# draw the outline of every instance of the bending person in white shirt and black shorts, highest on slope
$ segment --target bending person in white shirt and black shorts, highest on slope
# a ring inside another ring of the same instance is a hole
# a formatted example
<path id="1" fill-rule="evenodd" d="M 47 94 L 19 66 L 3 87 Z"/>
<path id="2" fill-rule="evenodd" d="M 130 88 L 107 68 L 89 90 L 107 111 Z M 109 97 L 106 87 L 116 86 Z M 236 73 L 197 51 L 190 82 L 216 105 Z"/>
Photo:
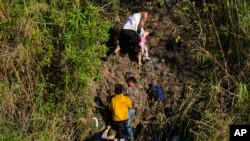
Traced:
<path id="1" fill-rule="evenodd" d="M 144 28 L 147 16 L 147 12 L 132 11 L 132 15 L 127 17 L 120 31 L 119 44 L 115 48 L 115 54 L 120 50 L 125 53 L 131 51 L 133 54 L 136 54 L 138 63 L 140 63 L 138 55 L 141 50 L 137 30 Z"/>

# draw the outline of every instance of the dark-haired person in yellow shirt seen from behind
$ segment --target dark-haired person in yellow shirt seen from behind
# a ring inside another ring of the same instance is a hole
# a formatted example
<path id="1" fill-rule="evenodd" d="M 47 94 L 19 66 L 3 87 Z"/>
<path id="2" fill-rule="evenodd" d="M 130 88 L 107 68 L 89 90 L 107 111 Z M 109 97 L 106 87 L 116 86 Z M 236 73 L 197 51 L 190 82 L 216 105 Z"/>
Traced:
<path id="1" fill-rule="evenodd" d="M 128 111 L 132 108 L 129 97 L 122 92 L 120 84 L 115 85 L 115 96 L 111 99 L 109 109 L 112 112 L 113 128 L 117 132 L 116 138 L 125 139 L 127 133 Z"/>

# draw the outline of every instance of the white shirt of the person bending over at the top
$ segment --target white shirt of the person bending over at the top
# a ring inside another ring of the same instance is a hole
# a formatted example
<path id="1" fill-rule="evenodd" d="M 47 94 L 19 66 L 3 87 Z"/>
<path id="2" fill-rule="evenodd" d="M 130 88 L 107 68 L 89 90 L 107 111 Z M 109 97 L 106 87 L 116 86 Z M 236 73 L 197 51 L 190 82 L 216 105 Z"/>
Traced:
<path id="1" fill-rule="evenodd" d="M 140 20 L 141 20 L 141 13 L 134 13 L 125 20 L 122 29 L 129 29 L 137 32 L 137 27 L 140 23 Z"/>

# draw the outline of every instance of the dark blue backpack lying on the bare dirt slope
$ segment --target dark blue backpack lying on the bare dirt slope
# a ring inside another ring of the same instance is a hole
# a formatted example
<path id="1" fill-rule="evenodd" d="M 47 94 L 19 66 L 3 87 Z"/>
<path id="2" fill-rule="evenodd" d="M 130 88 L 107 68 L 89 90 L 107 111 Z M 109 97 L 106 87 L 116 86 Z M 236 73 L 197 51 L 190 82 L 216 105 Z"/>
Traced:
<path id="1" fill-rule="evenodd" d="M 149 84 L 147 93 L 150 99 L 156 99 L 158 101 L 163 101 L 165 99 L 165 95 L 161 86 L 155 85 L 152 82 Z"/>

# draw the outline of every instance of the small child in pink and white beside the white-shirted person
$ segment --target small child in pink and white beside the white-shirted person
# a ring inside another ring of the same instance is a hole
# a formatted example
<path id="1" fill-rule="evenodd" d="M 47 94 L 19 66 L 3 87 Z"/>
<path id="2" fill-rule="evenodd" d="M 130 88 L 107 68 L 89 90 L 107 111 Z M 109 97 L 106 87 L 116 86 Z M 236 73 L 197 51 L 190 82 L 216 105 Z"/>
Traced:
<path id="1" fill-rule="evenodd" d="M 148 31 L 144 31 L 143 28 L 141 28 L 140 30 L 140 42 L 139 42 L 139 46 L 140 46 L 140 52 L 138 53 L 138 62 L 139 65 L 142 64 L 142 61 L 146 61 L 146 60 L 150 60 L 150 58 L 148 57 L 148 47 L 147 47 L 147 36 L 149 35 Z"/>

